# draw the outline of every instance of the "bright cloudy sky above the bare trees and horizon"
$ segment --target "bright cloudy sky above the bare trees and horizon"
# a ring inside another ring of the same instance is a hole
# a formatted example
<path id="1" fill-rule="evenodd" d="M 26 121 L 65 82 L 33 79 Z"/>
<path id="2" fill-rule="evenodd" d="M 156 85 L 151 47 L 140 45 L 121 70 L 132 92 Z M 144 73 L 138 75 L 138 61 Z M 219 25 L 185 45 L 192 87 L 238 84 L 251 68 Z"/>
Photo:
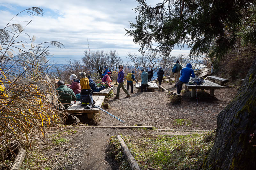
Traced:
<path id="1" fill-rule="evenodd" d="M 147 0 L 148 4 L 155 5 L 159 0 Z M 59 41 L 65 48 L 58 49 L 49 46 L 54 57 L 51 62 L 66 63 L 65 60 L 81 59 L 84 50 L 116 50 L 125 61 L 128 52 L 138 52 L 139 45 L 135 45 L 132 37 L 127 37 L 124 28 L 130 28 L 128 21 L 134 21 L 137 14 L 133 8 L 138 6 L 135 0 L 1 0 L 0 28 L 20 11 L 38 6 L 44 10 L 43 16 L 31 16 L 22 12 L 12 21 L 31 21 L 24 32 L 31 37 L 36 36 L 34 44 L 46 41 Z M 26 26 L 28 22 L 22 22 Z M 11 23 L 13 24 L 13 23 Z M 20 39 L 29 40 L 26 34 Z M 24 43 L 26 48 L 30 43 Z M 189 49 L 175 48 L 172 55 L 188 54 Z"/>

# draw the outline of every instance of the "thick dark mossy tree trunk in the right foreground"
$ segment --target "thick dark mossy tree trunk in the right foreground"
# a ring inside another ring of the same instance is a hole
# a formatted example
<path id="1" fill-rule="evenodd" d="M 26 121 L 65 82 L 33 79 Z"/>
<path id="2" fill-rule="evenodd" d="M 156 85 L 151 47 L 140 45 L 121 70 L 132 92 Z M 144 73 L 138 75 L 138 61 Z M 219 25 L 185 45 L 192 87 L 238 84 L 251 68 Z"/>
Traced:
<path id="1" fill-rule="evenodd" d="M 255 135 L 255 136 L 254 136 Z M 234 99 L 217 118 L 206 169 L 256 169 L 256 59 Z"/>

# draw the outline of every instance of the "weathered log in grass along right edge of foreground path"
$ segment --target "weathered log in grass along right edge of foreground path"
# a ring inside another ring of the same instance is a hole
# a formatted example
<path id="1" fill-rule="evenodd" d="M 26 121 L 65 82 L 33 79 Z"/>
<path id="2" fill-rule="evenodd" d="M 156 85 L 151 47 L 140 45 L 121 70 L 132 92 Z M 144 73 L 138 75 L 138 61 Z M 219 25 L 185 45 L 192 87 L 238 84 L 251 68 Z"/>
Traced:
<path id="1" fill-rule="evenodd" d="M 125 142 L 122 139 L 122 137 L 120 135 L 117 135 L 116 139 L 118 139 L 119 142 L 121 143 L 121 148 L 122 148 L 122 150 L 124 152 L 124 157 L 128 161 L 131 169 L 132 170 L 140 170 L 140 167 L 139 167 L 138 163 L 136 162 L 136 160 L 132 156 L 132 153 L 130 152 L 129 148 L 125 144 Z"/>

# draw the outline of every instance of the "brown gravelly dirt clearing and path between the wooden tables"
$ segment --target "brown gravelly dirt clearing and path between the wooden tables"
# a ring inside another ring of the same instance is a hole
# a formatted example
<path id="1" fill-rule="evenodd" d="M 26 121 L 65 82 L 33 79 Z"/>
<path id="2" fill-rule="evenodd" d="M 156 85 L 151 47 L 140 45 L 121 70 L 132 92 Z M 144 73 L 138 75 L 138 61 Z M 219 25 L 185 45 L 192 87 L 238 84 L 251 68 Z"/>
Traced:
<path id="1" fill-rule="evenodd" d="M 176 92 L 173 85 L 164 83 L 162 86 L 167 90 Z M 206 92 L 210 93 L 210 91 Z M 154 126 L 158 129 L 169 127 L 172 129 L 212 130 L 217 127 L 217 115 L 233 99 L 236 92 L 235 88 L 215 90 L 215 98 L 199 97 L 197 106 L 196 98 L 189 97 L 191 92 L 181 95 L 180 104 L 170 104 L 167 92 L 137 93 L 134 87 L 134 93 L 131 93 L 132 97 L 126 99 L 124 98 L 126 95 L 121 90 L 120 99 L 109 99 L 109 108 L 106 111 L 126 123 L 123 124 L 100 111 L 102 121 L 98 122 L 97 125 L 132 126 L 143 124 L 143 126 Z M 185 119 L 187 122 L 179 123 L 177 122 L 178 119 Z M 50 150 L 44 153 L 48 159 L 53 160 L 50 169 L 118 169 L 118 165 L 108 154 L 109 138 L 120 134 L 140 136 L 144 133 L 141 129 L 103 129 L 82 126 L 72 128 L 76 129 L 77 132 L 66 136 L 69 140 L 68 143 L 60 146 L 59 149 L 54 149 L 56 146 L 52 146 Z M 150 133 L 161 134 L 162 132 L 151 130 Z"/>

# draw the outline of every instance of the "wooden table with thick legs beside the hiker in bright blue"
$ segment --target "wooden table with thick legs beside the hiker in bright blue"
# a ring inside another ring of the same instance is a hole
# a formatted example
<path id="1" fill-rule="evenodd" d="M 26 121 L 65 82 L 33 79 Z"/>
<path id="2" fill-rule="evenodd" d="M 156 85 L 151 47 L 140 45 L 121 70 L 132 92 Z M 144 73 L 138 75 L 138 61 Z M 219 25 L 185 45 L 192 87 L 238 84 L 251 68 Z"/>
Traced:
<path id="1" fill-rule="evenodd" d="M 196 89 L 210 90 L 210 95 L 214 96 L 214 90 L 220 89 L 223 87 L 223 86 L 213 83 L 212 81 L 209 81 L 209 80 L 204 80 L 204 81 L 205 81 L 205 83 L 203 83 L 201 85 L 190 85 L 188 83 L 185 83 L 185 90 L 187 88 L 192 89 L 191 97 L 194 97 L 196 95 Z"/>

